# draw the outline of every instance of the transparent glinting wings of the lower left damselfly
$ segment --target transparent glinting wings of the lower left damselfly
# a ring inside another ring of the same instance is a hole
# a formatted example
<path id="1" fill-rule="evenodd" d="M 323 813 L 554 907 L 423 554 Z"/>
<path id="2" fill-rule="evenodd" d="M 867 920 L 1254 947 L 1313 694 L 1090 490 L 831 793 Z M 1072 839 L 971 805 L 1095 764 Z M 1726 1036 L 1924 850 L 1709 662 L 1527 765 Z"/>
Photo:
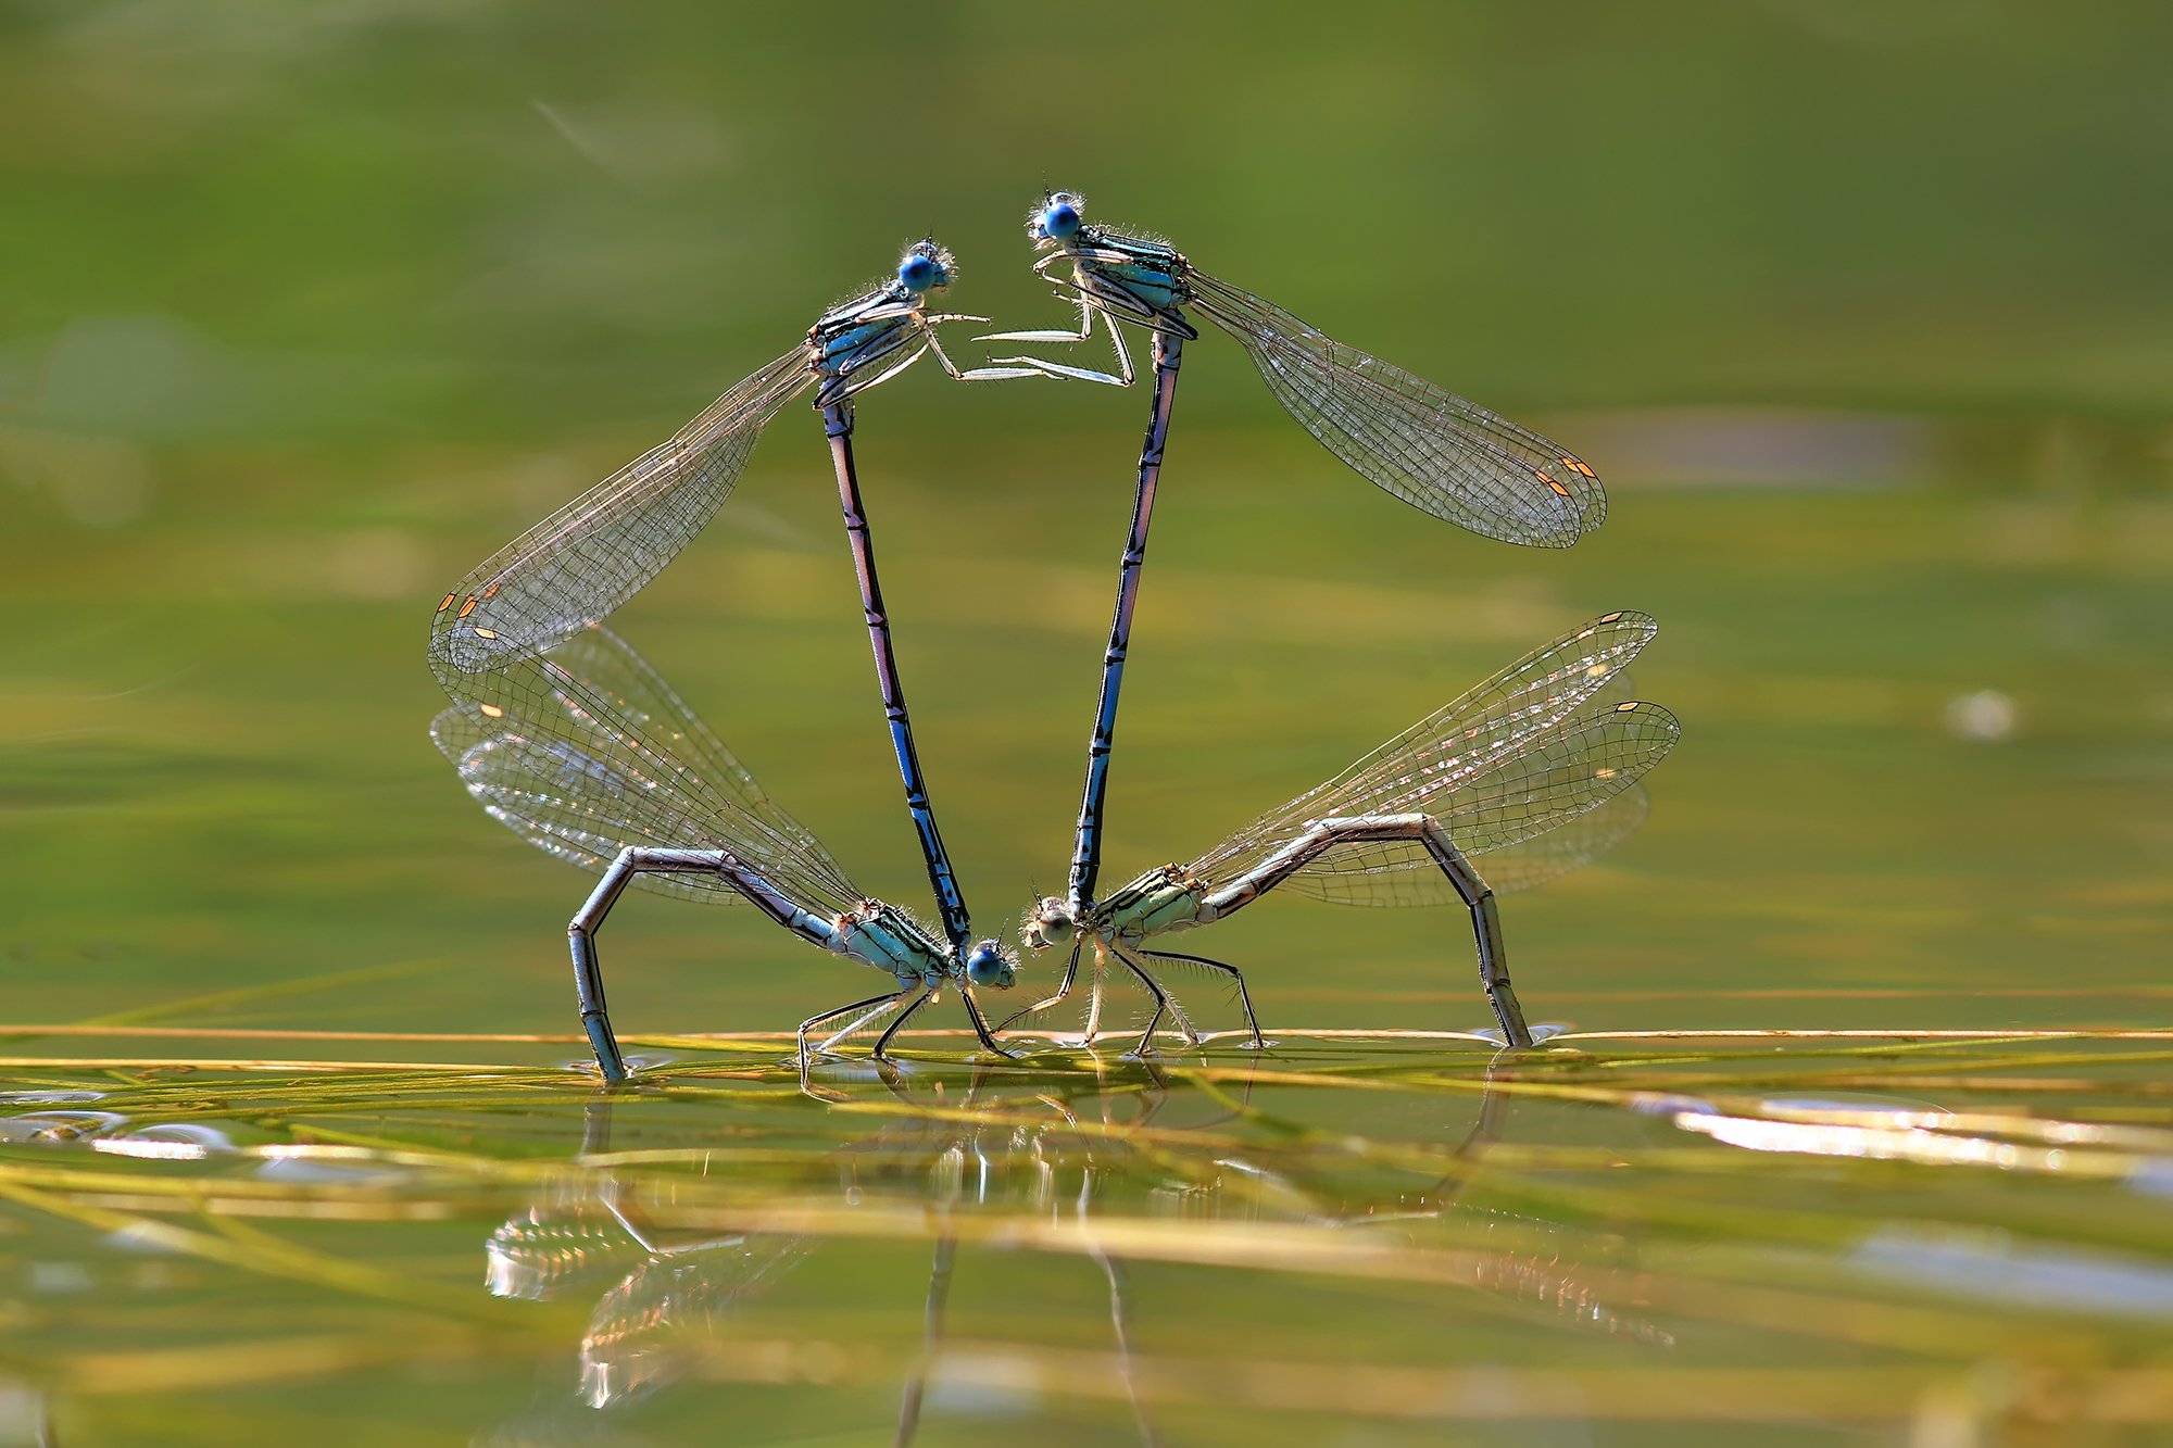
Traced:
<path id="1" fill-rule="evenodd" d="M 602 624 L 485 674 L 452 674 L 430 737 L 478 804 L 528 844 L 602 874 L 626 846 L 730 850 L 808 907 L 861 891 L 656 672 Z M 698 874 L 661 894 L 737 900 Z"/>

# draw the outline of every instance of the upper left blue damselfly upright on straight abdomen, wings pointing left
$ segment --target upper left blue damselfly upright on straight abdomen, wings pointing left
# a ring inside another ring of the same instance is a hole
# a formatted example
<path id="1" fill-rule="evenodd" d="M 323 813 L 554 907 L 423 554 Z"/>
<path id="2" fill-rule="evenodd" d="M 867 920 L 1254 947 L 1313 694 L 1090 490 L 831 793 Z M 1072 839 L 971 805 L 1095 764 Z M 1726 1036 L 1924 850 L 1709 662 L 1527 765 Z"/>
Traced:
<path id="1" fill-rule="evenodd" d="M 787 402 L 815 389 L 830 437 L 839 502 L 861 581 L 861 609 L 876 654 L 876 681 L 891 748 L 906 785 L 906 811 L 921 841 L 928 883 L 952 950 L 967 950 L 971 922 L 937 831 L 928 781 L 913 748 L 913 722 L 897 676 L 891 622 L 876 578 L 876 548 L 852 459 L 852 400 L 910 367 L 924 352 L 960 380 L 1032 376 L 1032 367 L 960 372 L 937 326 L 987 322 L 926 311 L 956 276 L 952 254 L 917 241 L 897 276 L 826 311 L 806 341 L 717 398 L 669 441 L 641 454 L 587 494 L 519 535 L 469 572 L 437 607 L 430 667 L 459 696 L 463 678 L 530 659 L 587 624 L 608 617 L 680 554 L 724 504 L 763 428 Z"/>

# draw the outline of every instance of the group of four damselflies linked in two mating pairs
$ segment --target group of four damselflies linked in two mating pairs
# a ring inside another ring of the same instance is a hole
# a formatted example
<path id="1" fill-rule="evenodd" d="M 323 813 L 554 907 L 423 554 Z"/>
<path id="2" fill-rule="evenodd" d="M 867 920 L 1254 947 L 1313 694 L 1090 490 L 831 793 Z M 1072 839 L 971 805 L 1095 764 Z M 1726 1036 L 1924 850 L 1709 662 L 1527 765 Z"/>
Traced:
<path id="1" fill-rule="evenodd" d="M 1076 300 L 1076 330 L 989 333 L 984 341 L 1113 337 L 1117 370 L 997 357 L 958 367 L 939 328 L 984 322 L 930 311 L 956 276 L 932 239 L 887 278 L 826 311 L 806 341 L 726 391 L 663 446 L 502 548 L 443 596 L 430 663 L 452 698 L 432 735 L 482 807 L 530 844 L 602 874 L 569 926 L 582 1024 L 604 1076 L 628 1070 L 604 1004 L 595 931 L 628 885 L 752 902 L 811 944 L 889 976 L 889 989 L 800 1026 L 800 1061 L 882 1024 L 876 1054 L 943 989 L 956 987 L 980 1044 L 1065 1002 L 1089 963 L 1086 1041 L 1117 974 L 1152 998 L 1136 1039 L 1150 1052 L 1173 1026 L 1199 1031 L 1163 968 L 1184 963 L 1234 983 L 1247 1044 L 1267 1044 L 1243 974 L 1158 948 L 1163 935 L 1221 920 L 1289 885 L 1367 904 L 1460 902 L 1471 915 L 1482 987 L 1499 1039 L 1530 1046 L 1510 987 L 1493 891 L 1552 878 L 1606 850 L 1645 811 L 1636 787 L 1678 737 L 1658 704 L 1632 700 L 1623 667 L 1651 639 L 1643 613 L 1604 613 L 1525 654 L 1404 731 L 1336 778 L 1299 794 L 1184 865 L 1150 870 L 1097 896 L 1104 798 L 1117 698 L 1130 652 L 1147 524 L 1169 439 L 1191 315 L 1230 333 L 1271 394 L 1356 472 L 1473 533 L 1567 546 L 1599 526 L 1606 496 L 1575 454 L 1462 398 L 1328 339 L 1291 313 L 1206 276 L 1167 244 L 1084 220 L 1080 198 L 1034 207 L 1034 270 Z M 1037 900 L 1030 950 L 1063 950 L 1056 989 L 991 1026 L 978 991 L 1008 989 L 1017 957 L 976 939 L 965 891 L 937 828 L 876 574 L 874 530 L 854 459 L 858 394 L 934 354 L 956 380 L 1134 380 L 1123 324 L 1152 335 L 1154 391 L 1102 689 L 1089 739 L 1065 896 Z M 737 757 L 604 620 L 700 533 L 737 483 L 761 430 L 815 389 L 830 441 L 887 728 L 937 902 L 939 931 L 856 889 L 821 844 L 774 804 Z M 1484 859 L 1480 870 L 1475 861 Z"/>

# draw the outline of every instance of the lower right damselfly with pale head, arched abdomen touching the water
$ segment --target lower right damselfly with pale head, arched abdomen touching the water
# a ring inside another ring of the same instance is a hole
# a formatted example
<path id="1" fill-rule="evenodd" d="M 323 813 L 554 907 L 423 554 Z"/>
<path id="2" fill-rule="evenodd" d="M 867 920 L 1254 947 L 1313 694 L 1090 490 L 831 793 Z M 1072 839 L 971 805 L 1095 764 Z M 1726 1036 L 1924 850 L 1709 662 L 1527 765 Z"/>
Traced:
<path id="1" fill-rule="evenodd" d="M 1197 1044 L 1156 963 L 1199 965 L 1236 985 L 1252 1044 L 1265 1044 L 1243 974 L 1195 954 L 1154 950 L 1150 939 L 1204 926 L 1276 885 L 1345 904 L 1445 904 L 1471 911 L 1480 983 L 1510 1046 L 1532 1031 L 1508 978 L 1495 887 L 1554 878 L 1602 854 L 1638 826 L 1638 776 L 1673 748 L 1675 715 L 1604 694 L 1658 631 L 1643 613 L 1604 613 L 1525 654 L 1445 709 L 1419 720 L 1336 778 L 1267 811 L 1189 865 L 1163 865 L 1086 909 L 1054 896 L 1026 915 L 1032 950 L 1071 946 L 1056 991 L 1004 1026 L 1060 1002 L 1093 948 L 1095 1035 L 1110 961 L 1154 998 L 1139 1037 L 1152 1050 L 1169 1015 Z M 1619 691 L 1619 689 L 1617 689 Z M 1489 859 L 1489 878 L 1473 865 Z M 1495 861 L 1502 861 L 1495 867 Z"/>

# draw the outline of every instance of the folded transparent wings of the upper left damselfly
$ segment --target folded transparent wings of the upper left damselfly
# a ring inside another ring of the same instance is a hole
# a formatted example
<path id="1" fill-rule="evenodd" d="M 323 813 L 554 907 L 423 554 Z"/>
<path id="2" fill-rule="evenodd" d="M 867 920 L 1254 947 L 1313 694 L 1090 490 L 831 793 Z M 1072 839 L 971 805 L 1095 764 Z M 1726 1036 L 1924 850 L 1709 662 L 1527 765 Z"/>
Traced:
<path id="1" fill-rule="evenodd" d="M 813 380 L 806 350 L 787 352 L 500 548 L 439 604 L 430 667 L 441 681 L 500 667 L 608 617 L 717 515 L 763 428 Z"/>

